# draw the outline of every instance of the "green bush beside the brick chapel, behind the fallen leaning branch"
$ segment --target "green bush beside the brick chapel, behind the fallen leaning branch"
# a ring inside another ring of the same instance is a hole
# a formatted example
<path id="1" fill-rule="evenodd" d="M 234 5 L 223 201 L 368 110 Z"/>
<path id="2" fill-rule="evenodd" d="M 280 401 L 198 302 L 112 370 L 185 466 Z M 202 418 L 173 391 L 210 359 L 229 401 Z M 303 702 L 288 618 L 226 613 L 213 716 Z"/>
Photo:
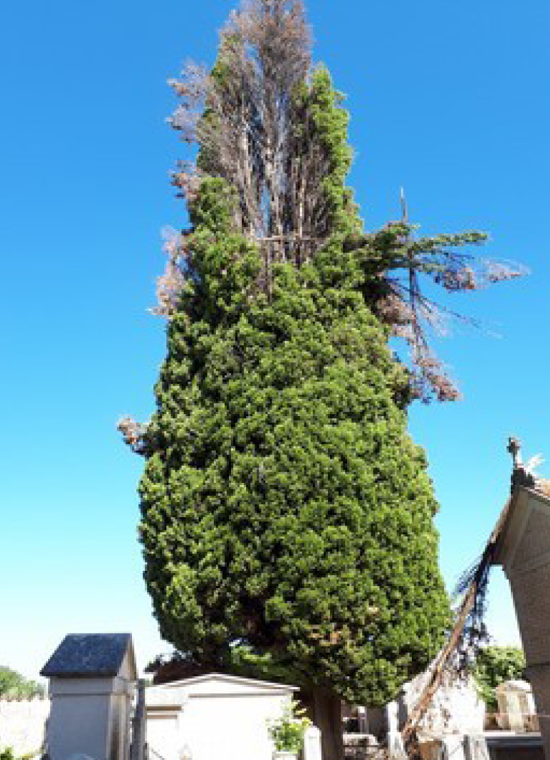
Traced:
<path id="1" fill-rule="evenodd" d="M 525 655 L 519 647 L 492 646 L 479 650 L 473 669 L 479 695 L 489 712 L 498 708 L 495 688 L 504 681 L 525 677 Z"/>

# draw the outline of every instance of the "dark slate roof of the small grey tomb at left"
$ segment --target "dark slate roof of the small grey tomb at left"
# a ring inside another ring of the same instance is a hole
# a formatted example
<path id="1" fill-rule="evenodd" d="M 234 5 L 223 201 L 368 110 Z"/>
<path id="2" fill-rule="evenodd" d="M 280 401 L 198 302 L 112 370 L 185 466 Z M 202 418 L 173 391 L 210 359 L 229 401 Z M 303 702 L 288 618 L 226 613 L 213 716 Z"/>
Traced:
<path id="1" fill-rule="evenodd" d="M 71 633 L 40 670 L 41 676 L 116 676 L 128 647 L 129 633 Z"/>

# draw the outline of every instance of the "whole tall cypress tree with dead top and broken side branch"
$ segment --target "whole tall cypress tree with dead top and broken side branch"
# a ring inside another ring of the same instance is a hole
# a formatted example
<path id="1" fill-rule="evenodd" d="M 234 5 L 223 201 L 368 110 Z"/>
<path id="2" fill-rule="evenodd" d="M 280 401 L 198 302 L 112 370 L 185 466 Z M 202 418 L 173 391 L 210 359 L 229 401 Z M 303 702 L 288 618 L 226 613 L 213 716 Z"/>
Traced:
<path id="1" fill-rule="evenodd" d="M 340 698 L 392 698 L 448 621 L 436 504 L 406 432 L 418 384 L 387 340 L 405 332 L 421 381 L 453 397 L 416 278 L 469 289 L 452 247 L 485 236 L 413 241 L 406 220 L 363 232 L 348 117 L 327 70 L 311 71 L 299 2 L 248 5 L 213 71 L 172 85 L 172 125 L 201 148 L 173 178 L 191 229 L 169 237 L 160 278 L 156 412 L 120 424 L 147 459 L 147 588 L 163 638 L 202 667 L 239 651 L 311 689 L 331 760 Z"/>

